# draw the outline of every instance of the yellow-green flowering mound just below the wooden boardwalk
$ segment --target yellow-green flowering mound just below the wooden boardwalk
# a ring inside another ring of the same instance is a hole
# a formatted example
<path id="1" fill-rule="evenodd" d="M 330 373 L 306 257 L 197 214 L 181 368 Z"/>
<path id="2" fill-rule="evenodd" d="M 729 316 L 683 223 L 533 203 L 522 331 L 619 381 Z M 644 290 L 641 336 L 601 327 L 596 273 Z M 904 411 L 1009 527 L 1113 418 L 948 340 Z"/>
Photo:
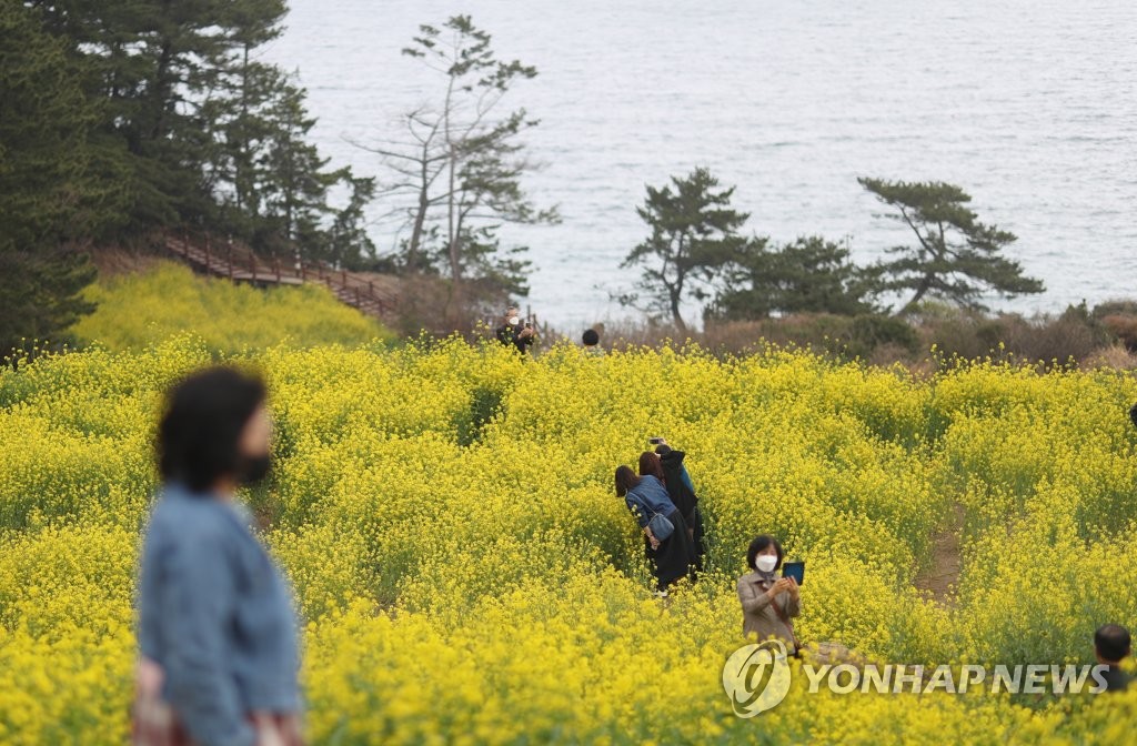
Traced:
<path id="1" fill-rule="evenodd" d="M 318 285 L 259 290 L 194 275 L 160 262 L 136 274 L 100 280 L 88 291 L 99 308 L 72 332 L 111 350 L 140 349 L 193 332 L 208 349 L 238 353 L 287 342 L 294 347 L 359 345 L 389 338 L 373 318 Z"/>

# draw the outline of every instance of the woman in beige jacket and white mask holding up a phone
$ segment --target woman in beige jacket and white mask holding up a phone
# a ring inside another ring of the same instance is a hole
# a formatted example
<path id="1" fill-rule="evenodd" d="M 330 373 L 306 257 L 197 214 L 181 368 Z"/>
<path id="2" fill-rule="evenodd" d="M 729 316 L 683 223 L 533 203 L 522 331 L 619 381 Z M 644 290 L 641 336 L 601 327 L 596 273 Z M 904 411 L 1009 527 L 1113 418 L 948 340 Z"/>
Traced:
<path id="1" fill-rule="evenodd" d="M 786 644 L 797 655 L 800 643 L 794 633 L 795 616 L 802 613 L 802 599 L 792 578 L 779 578 L 782 548 L 770 534 L 756 537 L 746 553 L 752 572 L 738 579 L 738 600 L 742 604 L 742 635 L 771 637 Z"/>

